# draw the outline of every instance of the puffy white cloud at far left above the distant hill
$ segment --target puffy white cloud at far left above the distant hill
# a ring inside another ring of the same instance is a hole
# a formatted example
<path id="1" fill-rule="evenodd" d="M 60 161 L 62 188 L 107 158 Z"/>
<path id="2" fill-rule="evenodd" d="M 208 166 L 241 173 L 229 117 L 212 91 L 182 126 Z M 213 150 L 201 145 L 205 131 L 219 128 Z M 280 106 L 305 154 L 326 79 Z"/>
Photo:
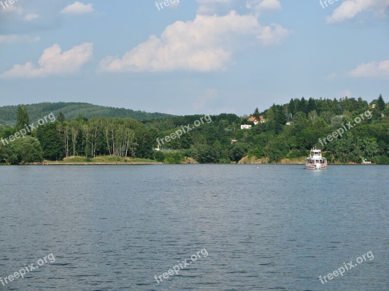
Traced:
<path id="1" fill-rule="evenodd" d="M 52 75 L 67 75 L 76 72 L 87 63 L 93 53 L 92 43 L 83 43 L 72 49 L 62 52 L 59 45 L 45 49 L 35 66 L 31 62 L 14 67 L 2 73 L 1 78 L 36 78 Z"/>

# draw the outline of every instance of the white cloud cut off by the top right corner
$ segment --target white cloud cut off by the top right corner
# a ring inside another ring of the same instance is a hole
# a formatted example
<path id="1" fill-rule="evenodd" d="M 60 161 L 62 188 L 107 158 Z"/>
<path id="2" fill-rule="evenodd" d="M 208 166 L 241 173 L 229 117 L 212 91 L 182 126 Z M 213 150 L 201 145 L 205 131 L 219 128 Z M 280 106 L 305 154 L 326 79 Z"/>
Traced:
<path id="1" fill-rule="evenodd" d="M 342 22 L 364 11 L 385 14 L 388 7 L 389 0 L 346 0 L 334 10 L 331 16 L 327 17 L 327 22 Z"/>

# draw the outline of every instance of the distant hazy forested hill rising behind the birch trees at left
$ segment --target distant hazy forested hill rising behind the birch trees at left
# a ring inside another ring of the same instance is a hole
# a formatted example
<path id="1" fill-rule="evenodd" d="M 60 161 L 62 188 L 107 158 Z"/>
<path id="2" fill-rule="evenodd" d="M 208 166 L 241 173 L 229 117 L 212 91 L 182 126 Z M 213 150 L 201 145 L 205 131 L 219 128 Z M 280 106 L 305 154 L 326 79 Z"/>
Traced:
<path id="1" fill-rule="evenodd" d="M 147 113 L 144 111 L 134 111 L 125 108 L 113 108 L 77 102 L 45 102 L 25 106 L 30 116 L 31 122 L 34 122 L 50 113 L 54 113 L 55 116 L 58 116 L 59 112 L 62 112 L 65 115 L 66 119 L 77 118 L 80 113 L 83 117 L 86 118 L 92 118 L 95 116 L 107 118 L 131 117 L 140 121 L 148 119 L 163 119 L 174 116 L 165 113 Z M 0 124 L 15 124 L 17 110 L 18 106 L 0 107 Z"/>

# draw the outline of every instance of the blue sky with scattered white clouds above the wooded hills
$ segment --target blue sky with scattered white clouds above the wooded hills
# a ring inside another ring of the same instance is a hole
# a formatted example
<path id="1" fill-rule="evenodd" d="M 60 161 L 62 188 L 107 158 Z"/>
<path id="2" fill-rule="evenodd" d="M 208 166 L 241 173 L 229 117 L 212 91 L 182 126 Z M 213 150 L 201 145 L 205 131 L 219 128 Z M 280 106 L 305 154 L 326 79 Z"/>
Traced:
<path id="1" fill-rule="evenodd" d="M 2 0 L 0 106 L 177 115 L 389 101 L 389 0 Z"/>

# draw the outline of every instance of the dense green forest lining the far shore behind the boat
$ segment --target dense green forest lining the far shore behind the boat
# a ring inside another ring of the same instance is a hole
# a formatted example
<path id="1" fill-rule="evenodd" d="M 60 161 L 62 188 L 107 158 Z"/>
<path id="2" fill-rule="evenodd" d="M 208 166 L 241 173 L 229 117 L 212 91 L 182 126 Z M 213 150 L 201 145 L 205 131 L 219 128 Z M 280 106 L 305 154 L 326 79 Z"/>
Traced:
<path id="1" fill-rule="evenodd" d="M 19 107 L 18 120 L 26 120 L 27 114 L 42 117 L 33 115 L 28 107 L 26 109 L 23 111 L 23 107 Z M 52 108 L 49 111 L 53 111 Z M 15 117 L 16 113 L 15 110 Z M 2 162 L 62 160 L 73 156 L 93 159 L 100 155 L 169 163 L 182 162 L 185 157 L 200 163 L 238 162 L 244 157 L 280 162 L 282 159 L 302 159 L 317 145 L 330 163 L 360 163 L 366 158 L 389 164 L 389 109 L 381 95 L 370 104 L 361 98 L 295 98 L 284 105 L 273 104 L 264 112 L 256 108 L 245 116 L 212 115 L 212 122 L 201 124 L 198 121 L 204 118 L 203 115 L 144 121 L 117 116 L 87 118 L 82 113 L 73 119 L 62 113 L 55 116 L 55 122 L 45 123 L 25 138 L 5 146 L 0 142 Z M 265 122 L 254 125 L 248 121 L 250 116 L 263 116 Z M 241 129 L 243 124 L 251 125 L 251 129 Z M 347 124 L 352 128 L 347 128 Z M 165 139 L 162 150 L 155 150 L 157 139 L 172 136 L 188 125 L 192 128 L 189 132 L 180 138 Z M 0 127 L 0 137 L 5 139 L 20 128 L 20 125 L 19 128 Z M 320 144 L 319 139 L 340 128 L 347 129 L 341 137 Z"/>

